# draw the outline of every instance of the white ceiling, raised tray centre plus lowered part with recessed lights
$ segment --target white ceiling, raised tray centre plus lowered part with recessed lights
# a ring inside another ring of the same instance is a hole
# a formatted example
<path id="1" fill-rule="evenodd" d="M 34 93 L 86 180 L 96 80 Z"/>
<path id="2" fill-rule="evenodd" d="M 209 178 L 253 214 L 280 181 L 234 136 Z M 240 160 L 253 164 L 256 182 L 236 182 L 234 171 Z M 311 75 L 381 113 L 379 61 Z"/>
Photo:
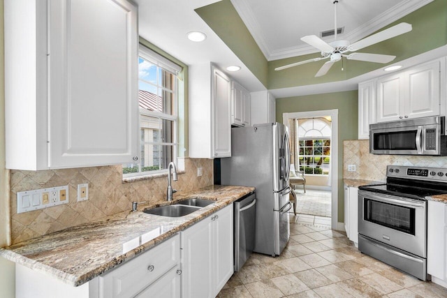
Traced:
<path id="1" fill-rule="evenodd" d="M 316 52 L 303 44 L 300 37 L 334 28 L 333 0 L 230 0 L 268 60 L 295 57 Z M 394 22 L 433 0 L 339 0 L 337 27 L 345 27 L 339 38 L 351 42 Z M 249 91 L 265 87 L 244 66 L 194 9 L 217 0 L 135 0 L 139 10 L 139 33 L 150 43 L 185 64 L 210 61 L 224 70 L 239 65 L 242 69 L 228 73 Z M 189 31 L 203 31 L 207 39 L 193 43 Z M 337 38 L 337 39 L 339 39 Z M 330 41 L 330 38 L 327 40 Z M 351 80 L 352 81 L 352 80 Z M 352 88 L 353 82 L 327 84 L 327 92 Z M 274 96 L 287 97 L 306 93 L 307 87 L 272 90 Z M 312 88 L 319 90 L 319 88 Z M 319 92 L 321 93 L 321 92 Z"/>

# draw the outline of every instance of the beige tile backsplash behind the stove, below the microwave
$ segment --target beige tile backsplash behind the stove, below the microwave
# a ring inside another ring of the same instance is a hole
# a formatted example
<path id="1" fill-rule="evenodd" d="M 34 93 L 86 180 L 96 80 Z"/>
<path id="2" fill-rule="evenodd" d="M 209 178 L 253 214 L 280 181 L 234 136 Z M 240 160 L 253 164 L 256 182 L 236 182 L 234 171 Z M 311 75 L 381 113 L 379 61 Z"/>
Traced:
<path id="1" fill-rule="evenodd" d="M 348 172 L 348 165 L 356 171 Z M 369 140 L 343 142 L 343 178 L 385 181 L 387 165 L 447 168 L 447 156 L 376 155 L 369 153 Z"/>

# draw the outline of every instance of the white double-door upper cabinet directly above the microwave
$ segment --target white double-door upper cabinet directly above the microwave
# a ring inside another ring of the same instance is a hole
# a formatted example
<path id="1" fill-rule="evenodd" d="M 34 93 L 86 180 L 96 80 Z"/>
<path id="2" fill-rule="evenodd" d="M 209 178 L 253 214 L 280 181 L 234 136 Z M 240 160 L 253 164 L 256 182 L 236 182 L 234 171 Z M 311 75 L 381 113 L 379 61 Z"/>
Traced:
<path id="1" fill-rule="evenodd" d="M 440 114 L 441 60 L 379 77 L 376 81 L 377 122 Z"/>

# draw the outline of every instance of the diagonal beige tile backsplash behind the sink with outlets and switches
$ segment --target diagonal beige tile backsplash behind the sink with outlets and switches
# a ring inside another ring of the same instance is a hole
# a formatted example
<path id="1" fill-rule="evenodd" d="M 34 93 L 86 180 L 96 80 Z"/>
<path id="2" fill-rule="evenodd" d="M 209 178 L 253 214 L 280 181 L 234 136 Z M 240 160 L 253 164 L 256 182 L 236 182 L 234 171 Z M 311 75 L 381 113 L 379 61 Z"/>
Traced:
<path id="1" fill-rule="evenodd" d="M 185 158 L 185 173 L 173 181 L 182 191 L 213 184 L 213 162 L 210 159 Z M 203 175 L 197 177 L 197 167 Z M 64 170 L 11 170 L 11 239 L 15 244 L 82 223 L 93 223 L 131 209 L 131 202 L 149 204 L 166 200 L 166 176 L 133 182 L 122 182 L 122 166 L 82 167 Z M 89 200 L 77 201 L 78 184 L 89 184 Z M 69 203 L 17 214 L 17 192 L 68 185 Z"/>

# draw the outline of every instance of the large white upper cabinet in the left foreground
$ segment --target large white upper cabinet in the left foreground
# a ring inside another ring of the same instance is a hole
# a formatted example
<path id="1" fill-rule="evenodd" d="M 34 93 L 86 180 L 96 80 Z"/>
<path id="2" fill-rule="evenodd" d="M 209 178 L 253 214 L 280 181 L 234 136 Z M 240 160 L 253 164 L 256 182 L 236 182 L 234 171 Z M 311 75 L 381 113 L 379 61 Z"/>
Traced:
<path id="1" fill-rule="evenodd" d="M 5 57 L 8 168 L 138 160 L 133 3 L 6 0 Z"/>

